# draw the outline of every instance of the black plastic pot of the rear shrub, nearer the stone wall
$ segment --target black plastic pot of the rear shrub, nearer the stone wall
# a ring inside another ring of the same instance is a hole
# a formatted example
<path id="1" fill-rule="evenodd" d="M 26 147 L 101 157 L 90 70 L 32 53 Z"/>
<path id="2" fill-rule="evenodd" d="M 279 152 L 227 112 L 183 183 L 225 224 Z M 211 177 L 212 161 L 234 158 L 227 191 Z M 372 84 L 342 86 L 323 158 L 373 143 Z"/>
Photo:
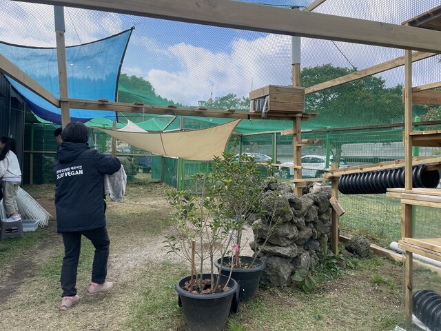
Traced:
<path id="1" fill-rule="evenodd" d="M 245 264 L 252 263 L 254 257 L 239 257 L 240 261 Z M 224 257 L 223 263 L 230 264 L 231 257 Z M 220 259 L 214 261 L 214 265 L 220 270 L 221 274 L 229 276 L 232 271 L 232 278 L 235 279 L 240 286 L 240 301 L 254 298 L 259 288 L 260 274 L 266 268 L 265 261 L 256 259 L 251 268 L 232 268 L 227 265 L 220 265 Z"/>

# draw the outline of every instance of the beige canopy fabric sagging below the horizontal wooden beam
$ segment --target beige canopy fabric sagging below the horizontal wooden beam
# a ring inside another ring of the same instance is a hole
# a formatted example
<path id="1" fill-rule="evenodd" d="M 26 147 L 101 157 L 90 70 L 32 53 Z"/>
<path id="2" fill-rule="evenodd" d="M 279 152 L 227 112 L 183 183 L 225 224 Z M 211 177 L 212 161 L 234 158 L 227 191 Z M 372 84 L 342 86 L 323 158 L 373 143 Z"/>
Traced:
<path id="1" fill-rule="evenodd" d="M 222 157 L 229 137 L 239 121 L 240 119 L 236 119 L 220 126 L 192 131 L 147 132 L 131 121 L 118 130 L 96 129 L 154 154 L 209 161 L 214 157 Z"/>

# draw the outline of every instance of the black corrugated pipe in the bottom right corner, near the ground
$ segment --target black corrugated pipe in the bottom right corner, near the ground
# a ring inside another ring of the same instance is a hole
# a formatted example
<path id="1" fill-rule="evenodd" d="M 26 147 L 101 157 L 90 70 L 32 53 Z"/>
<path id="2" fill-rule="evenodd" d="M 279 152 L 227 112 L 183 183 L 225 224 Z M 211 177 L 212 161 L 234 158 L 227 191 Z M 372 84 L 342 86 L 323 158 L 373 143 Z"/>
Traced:
<path id="1" fill-rule="evenodd" d="M 413 314 L 431 331 L 441 331 L 441 295 L 419 290 L 412 297 Z"/>

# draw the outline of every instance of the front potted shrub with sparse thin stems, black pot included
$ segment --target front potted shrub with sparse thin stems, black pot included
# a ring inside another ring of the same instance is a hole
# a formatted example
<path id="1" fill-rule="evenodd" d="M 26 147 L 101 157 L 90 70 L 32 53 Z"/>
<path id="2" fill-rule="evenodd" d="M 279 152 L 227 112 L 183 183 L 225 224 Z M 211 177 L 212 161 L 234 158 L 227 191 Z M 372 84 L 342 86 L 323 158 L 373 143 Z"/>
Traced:
<path id="1" fill-rule="evenodd" d="M 176 234 L 167 237 L 167 247 L 183 257 L 190 273 L 176 283 L 189 330 L 223 330 L 230 310 L 238 309 L 238 284 L 215 272 L 215 256 L 223 256 L 232 236 L 219 202 L 212 193 L 212 174 L 195 175 L 195 192 L 167 191 Z"/>

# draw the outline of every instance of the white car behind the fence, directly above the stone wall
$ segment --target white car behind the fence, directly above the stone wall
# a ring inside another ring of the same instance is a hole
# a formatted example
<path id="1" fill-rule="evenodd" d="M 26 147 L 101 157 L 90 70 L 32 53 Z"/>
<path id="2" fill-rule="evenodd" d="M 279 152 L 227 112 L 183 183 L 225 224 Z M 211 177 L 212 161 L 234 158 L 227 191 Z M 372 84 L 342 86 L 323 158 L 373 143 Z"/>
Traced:
<path id="1" fill-rule="evenodd" d="M 329 157 L 329 164 L 332 162 L 332 155 Z M 294 165 L 294 162 L 283 162 L 279 166 L 278 175 L 280 178 L 292 178 L 294 177 L 294 168 L 284 168 L 283 165 Z M 329 170 L 326 168 L 326 157 L 322 155 L 304 155 L 302 157 L 302 178 L 318 178 L 322 177 L 322 174 Z M 345 162 L 345 159 L 340 158 L 339 168 L 348 168 L 349 165 Z M 311 168 L 311 169 L 307 169 Z"/>

